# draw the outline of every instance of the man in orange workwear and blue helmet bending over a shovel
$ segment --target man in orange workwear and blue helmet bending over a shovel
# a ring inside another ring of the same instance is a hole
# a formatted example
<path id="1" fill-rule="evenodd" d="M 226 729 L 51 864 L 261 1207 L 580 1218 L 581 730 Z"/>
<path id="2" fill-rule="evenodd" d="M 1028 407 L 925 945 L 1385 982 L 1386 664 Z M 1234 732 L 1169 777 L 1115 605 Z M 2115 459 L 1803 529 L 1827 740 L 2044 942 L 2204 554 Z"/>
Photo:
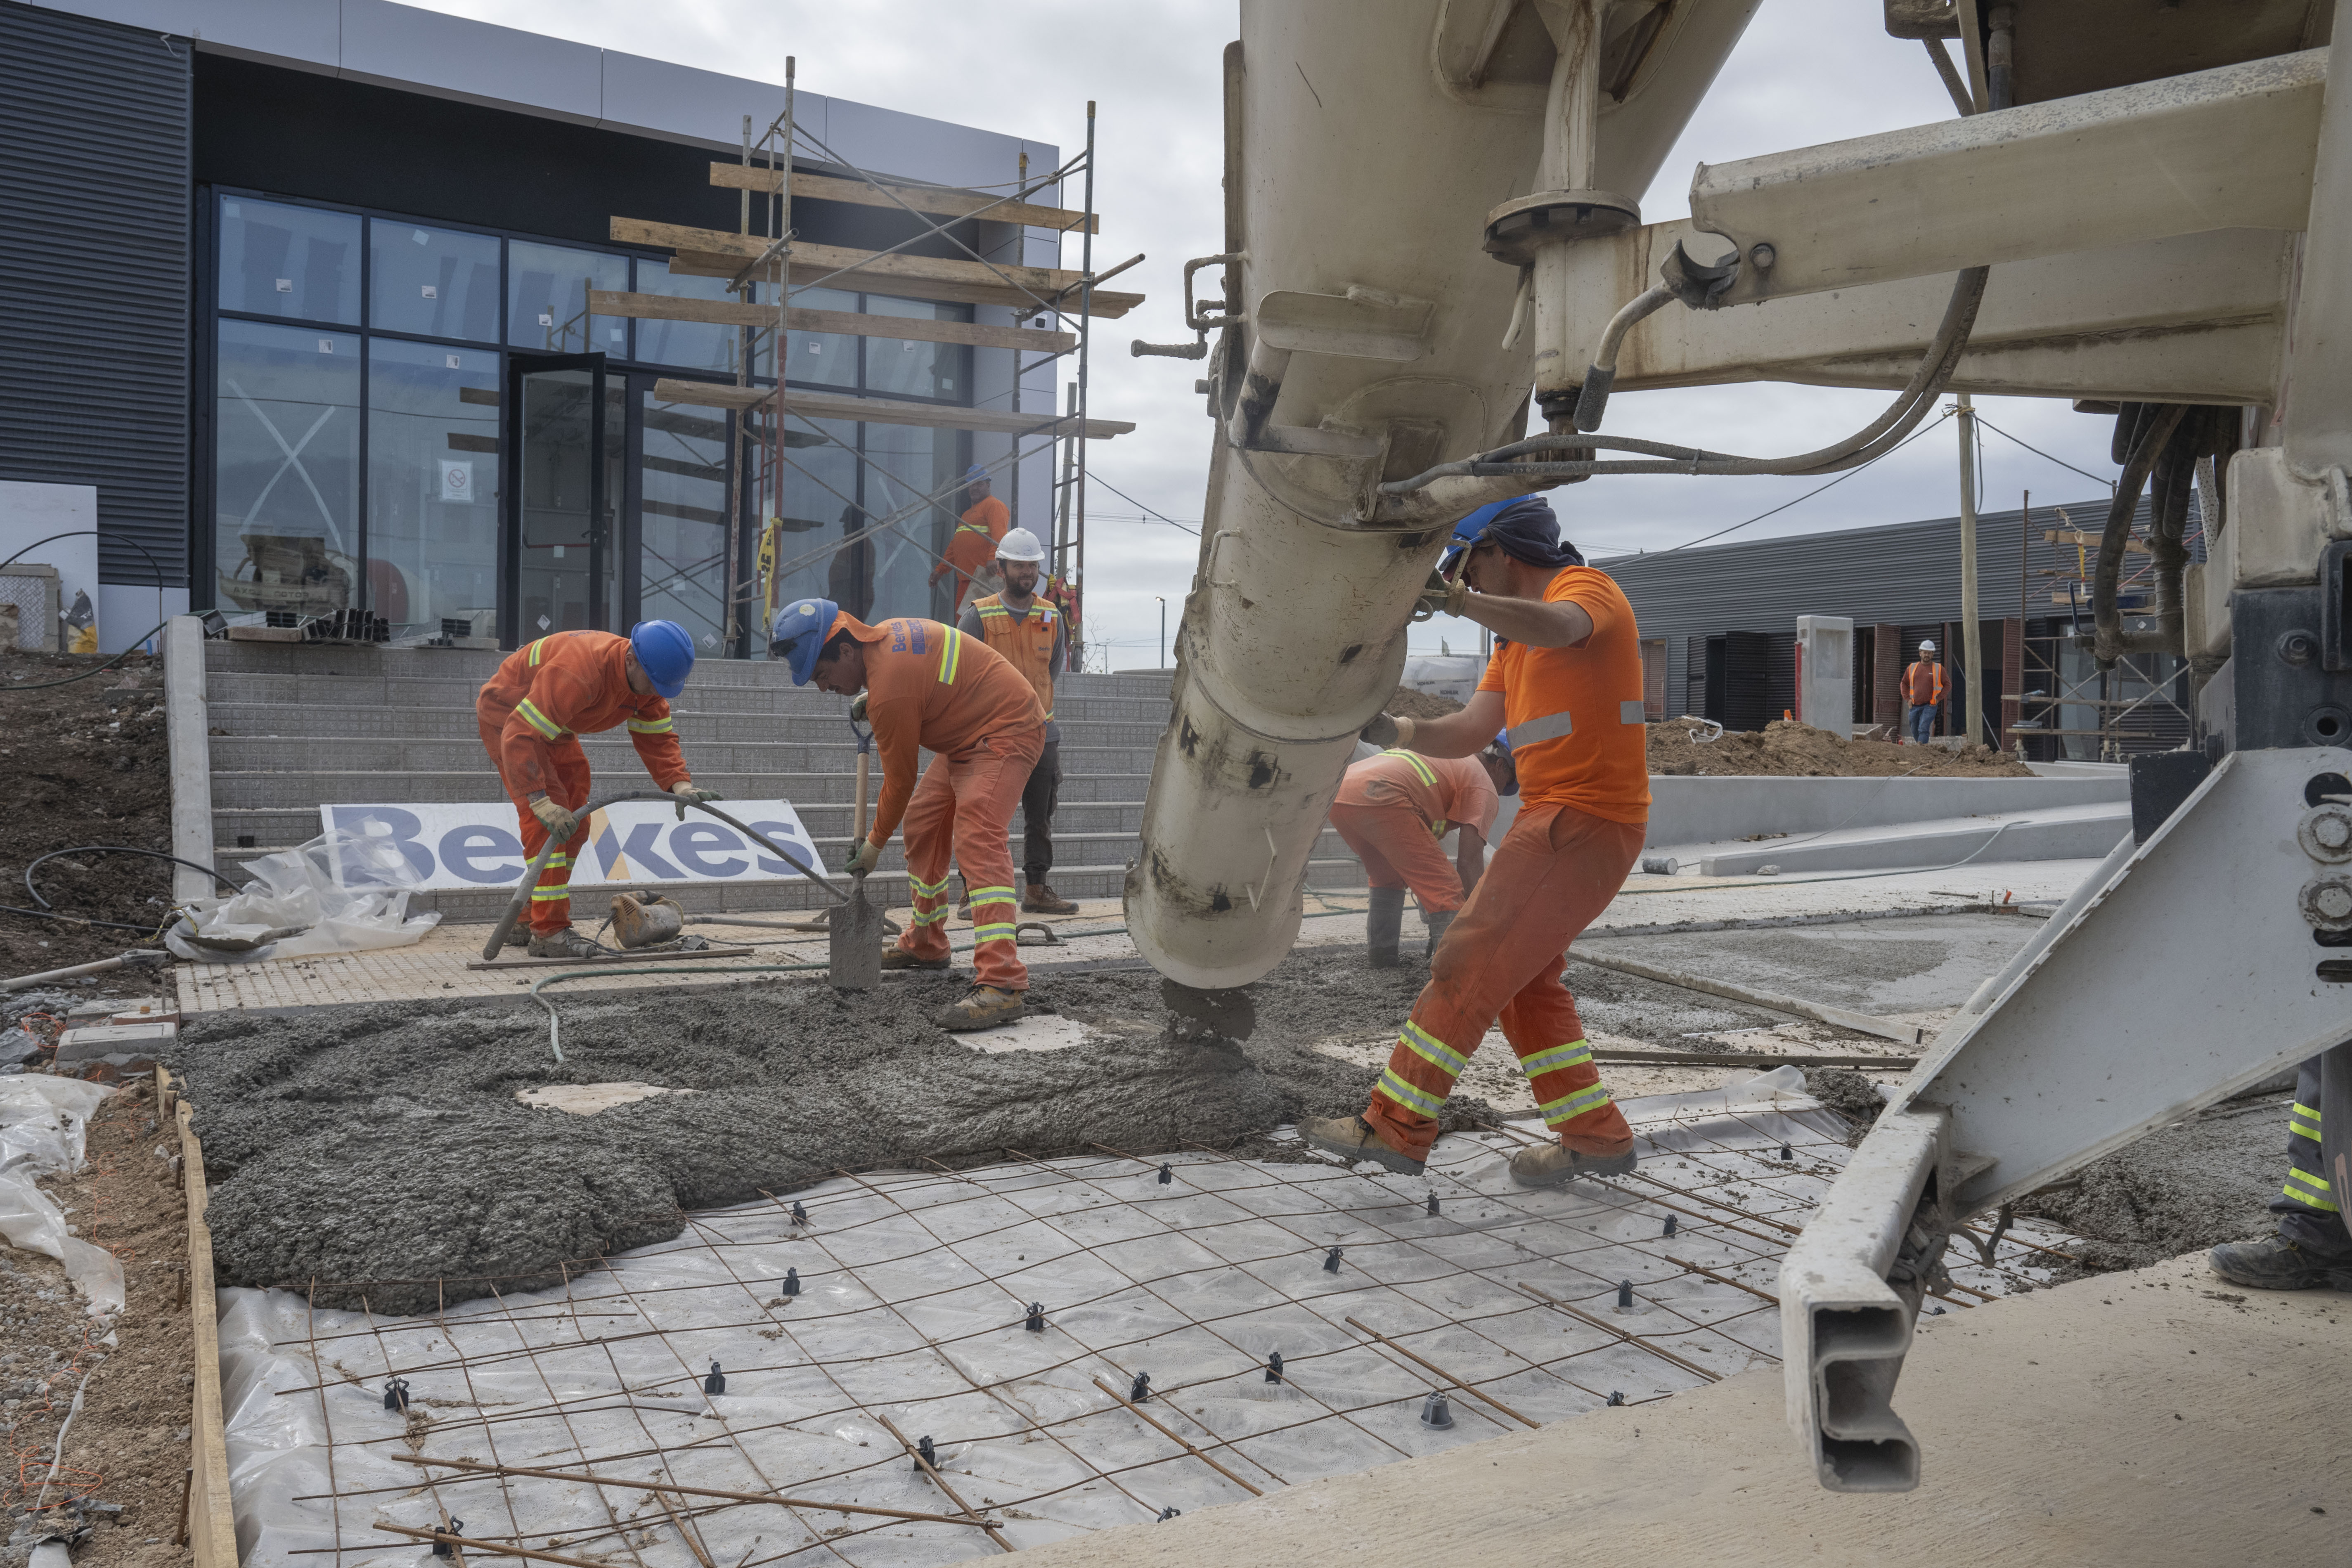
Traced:
<path id="1" fill-rule="evenodd" d="M 873 830 L 849 849 L 847 870 L 870 872 L 906 820 L 906 879 L 915 917 L 882 969 L 948 966 L 948 860 L 971 886 L 971 992 L 938 1016 L 943 1030 L 985 1030 L 1021 1016 L 1028 966 L 1014 950 L 1014 802 L 1044 748 L 1044 708 L 993 649 L 938 621 L 866 625 L 833 599 L 776 611 L 769 656 L 793 665 L 793 684 L 863 696 L 849 717 L 875 726 L 882 797 Z M 920 752 L 936 752 L 915 783 Z"/>

